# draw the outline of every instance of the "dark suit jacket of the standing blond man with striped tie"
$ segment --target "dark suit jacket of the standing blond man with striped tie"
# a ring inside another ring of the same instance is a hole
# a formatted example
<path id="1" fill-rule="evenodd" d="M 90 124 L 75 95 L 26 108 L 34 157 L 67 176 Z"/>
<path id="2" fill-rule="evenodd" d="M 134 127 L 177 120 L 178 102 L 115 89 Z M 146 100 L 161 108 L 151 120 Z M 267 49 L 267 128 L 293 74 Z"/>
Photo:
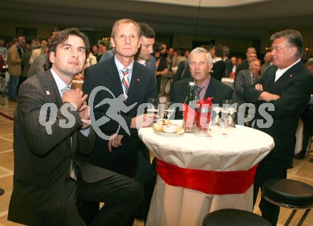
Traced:
<path id="1" fill-rule="evenodd" d="M 154 80 L 155 76 L 152 70 L 149 70 L 147 67 L 134 62 L 132 80 L 129 85 L 128 98 L 125 104 L 127 106 L 135 104 L 135 106 L 130 109 L 129 112 L 122 112 L 121 103 L 118 102 L 117 99 L 113 99 L 114 97 L 117 98 L 120 97 L 120 95 L 123 95 L 120 75 L 117 71 L 114 59 L 115 58 L 110 58 L 103 62 L 92 65 L 90 68 L 85 70 L 83 91 L 90 95 L 95 87 L 102 86 L 103 89 L 106 88 L 112 92 L 110 93 L 107 90 L 100 90 L 97 92 L 94 102 L 92 103 L 92 109 L 96 120 L 100 119 L 101 117 L 107 117 L 108 110 L 112 109 L 112 107 L 110 108 L 110 104 L 103 104 L 99 107 L 96 107 L 96 105 L 104 99 L 107 99 L 108 102 L 112 100 L 111 105 L 115 106 L 116 112 L 112 113 L 112 117 L 107 118 L 109 121 L 105 124 L 102 124 L 102 126 L 100 126 L 100 130 L 107 136 L 115 134 L 118 131 L 118 134 L 124 135 L 124 139 L 122 140 L 123 145 L 120 148 L 113 149 L 110 153 L 107 147 L 108 140 L 102 139 L 98 134 L 95 141 L 95 148 L 92 151 L 92 154 L 90 156 L 82 156 L 81 159 L 84 159 L 85 161 L 93 163 L 97 166 L 116 171 L 115 166 L 117 163 L 123 159 L 125 160 L 126 158 L 130 158 L 127 162 L 131 166 L 125 168 L 126 172 L 119 171 L 118 173 L 122 173 L 127 176 L 133 176 L 132 174 L 134 174 L 136 169 L 134 167 L 137 167 L 137 146 L 139 137 L 137 134 L 137 129 L 129 128 L 132 118 L 137 116 L 137 109 L 139 105 L 142 103 L 147 103 L 148 99 L 151 97 L 157 97 L 156 83 Z M 114 95 L 114 97 L 112 97 L 112 95 Z M 90 101 L 88 104 L 91 104 Z M 130 134 L 127 134 L 127 131 L 125 131 L 125 129 L 120 127 L 119 123 L 112 119 L 114 117 L 122 117 L 122 119 L 124 119 Z"/>

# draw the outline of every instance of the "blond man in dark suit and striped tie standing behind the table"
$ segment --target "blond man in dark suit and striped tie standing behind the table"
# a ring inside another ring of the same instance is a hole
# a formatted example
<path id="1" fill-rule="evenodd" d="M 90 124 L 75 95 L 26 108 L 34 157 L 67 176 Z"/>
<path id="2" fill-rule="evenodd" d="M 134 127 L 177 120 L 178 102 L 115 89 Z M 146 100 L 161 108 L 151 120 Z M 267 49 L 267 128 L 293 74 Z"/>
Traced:
<path id="1" fill-rule="evenodd" d="M 94 151 L 83 159 L 129 177 L 134 177 L 137 169 L 137 128 L 149 127 L 157 117 L 143 114 L 143 110 L 137 111 L 140 104 L 157 96 L 154 72 L 134 61 L 140 37 L 140 28 L 135 21 L 116 21 L 111 35 L 115 56 L 87 68 L 83 84 L 87 94 L 95 87 L 104 87 L 95 95 L 92 110 L 95 119 L 107 118 L 107 122 L 100 126 L 102 134 L 97 134 Z M 111 102 L 115 112 L 108 104 L 98 106 L 100 102 Z"/>

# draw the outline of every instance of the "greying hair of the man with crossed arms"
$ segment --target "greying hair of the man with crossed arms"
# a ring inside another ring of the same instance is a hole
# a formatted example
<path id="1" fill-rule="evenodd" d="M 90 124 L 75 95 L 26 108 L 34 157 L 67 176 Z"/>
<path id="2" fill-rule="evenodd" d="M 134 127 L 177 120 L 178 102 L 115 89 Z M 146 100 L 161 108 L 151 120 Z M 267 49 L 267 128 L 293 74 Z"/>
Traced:
<path id="1" fill-rule="evenodd" d="M 287 30 L 283 30 L 283 31 L 278 31 L 276 33 L 274 33 L 272 36 L 270 36 L 270 40 L 274 41 L 277 38 L 287 38 L 288 43 L 290 43 L 290 45 L 292 46 L 296 46 L 297 47 L 297 53 L 296 56 L 297 58 L 302 58 L 303 55 L 303 38 L 301 33 L 299 33 L 299 31 L 297 30 L 292 30 L 292 29 L 287 29 Z"/>

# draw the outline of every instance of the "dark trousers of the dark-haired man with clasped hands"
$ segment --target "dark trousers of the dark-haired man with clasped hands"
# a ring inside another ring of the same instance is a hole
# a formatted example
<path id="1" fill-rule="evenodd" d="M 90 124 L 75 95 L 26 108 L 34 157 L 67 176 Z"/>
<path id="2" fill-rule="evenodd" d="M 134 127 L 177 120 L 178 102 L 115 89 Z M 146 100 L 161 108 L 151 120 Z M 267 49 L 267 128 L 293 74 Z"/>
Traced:
<path id="1" fill-rule="evenodd" d="M 68 226 L 86 225 L 76 206 L 77 199 L 105 203 L 88 225 L 124 226 L 129 222 L 129 218 L 132 218 L 133 221 L 133 212 L 144 198 L 142 185 L 134 179 L 120 174 L 95 183 L 87 183 L 81 178 L 78 178 L 77 182 L 68 181 L 68 183 L 68 198 L 73 200 L 70 202 L 73 205 L 68 207 L 65 213 L 63 225 Z M 99 204 L 97 208 L 99 208 Z"/>

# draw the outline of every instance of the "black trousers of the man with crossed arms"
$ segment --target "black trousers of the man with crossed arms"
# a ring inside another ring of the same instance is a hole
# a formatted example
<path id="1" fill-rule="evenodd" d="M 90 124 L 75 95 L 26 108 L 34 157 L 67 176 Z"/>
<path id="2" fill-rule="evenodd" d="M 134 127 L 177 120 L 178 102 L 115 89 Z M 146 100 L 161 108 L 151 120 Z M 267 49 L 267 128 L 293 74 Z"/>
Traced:
<path id="1" fill-rule="evenodd" d="M 255 183 L 253 185 L 253 205 L 258 197 L 259 188 L 262 190 L 263 183 L 272 178 L 287 178 L 287 168 L 282 166 L 260 164 L 255 174 Z M 268 220 L 272 225 L 277 225 L 278 215 L 280 215 L 280 207 L 274 205 L 261 197 L 259 208 L 262 217 Z"/>

